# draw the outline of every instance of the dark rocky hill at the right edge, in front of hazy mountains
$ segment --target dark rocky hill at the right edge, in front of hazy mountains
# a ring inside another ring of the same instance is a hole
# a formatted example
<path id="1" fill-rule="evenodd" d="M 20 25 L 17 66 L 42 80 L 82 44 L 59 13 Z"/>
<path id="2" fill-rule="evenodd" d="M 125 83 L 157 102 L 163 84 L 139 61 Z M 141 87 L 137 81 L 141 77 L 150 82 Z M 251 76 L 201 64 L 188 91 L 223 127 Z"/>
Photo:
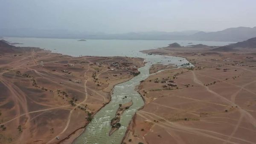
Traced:
<path id="1" fill-rule="evenodd" d="M 222 52 L 228 52 L 228 51 L 234 51 L 236 49 L 234 48 L 256 48 L 256 37 L 250 38 L 248 40 L 233 43 L 227 46 L 221 46 L 216 49 L 212 49 L 213 51 L 222 51 Z"/>

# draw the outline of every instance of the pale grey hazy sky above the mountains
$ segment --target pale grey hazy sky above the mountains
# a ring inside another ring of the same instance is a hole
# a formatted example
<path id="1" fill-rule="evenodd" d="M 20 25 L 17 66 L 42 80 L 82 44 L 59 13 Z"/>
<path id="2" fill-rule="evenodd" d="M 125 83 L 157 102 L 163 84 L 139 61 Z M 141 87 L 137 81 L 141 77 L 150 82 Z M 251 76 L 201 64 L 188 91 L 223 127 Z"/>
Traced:
<path id="1" fill-rule="evenodd" d="M 218 31 L 256 26 L 256 0 L 0 0 L 0 29 Z"/>

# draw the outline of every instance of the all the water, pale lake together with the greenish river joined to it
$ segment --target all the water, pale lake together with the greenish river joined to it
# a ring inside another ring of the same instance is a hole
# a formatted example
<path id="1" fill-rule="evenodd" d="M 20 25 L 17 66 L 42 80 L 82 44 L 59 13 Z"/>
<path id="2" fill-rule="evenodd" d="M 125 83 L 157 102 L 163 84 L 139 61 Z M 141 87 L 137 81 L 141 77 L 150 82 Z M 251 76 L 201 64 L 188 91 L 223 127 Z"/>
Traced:
<path id="1" fill-rule="evenodd" d="M 86 130 L 78 137 L 73 144 L 121 144 L 128 124 L 138 109 L 143 107 L 144 102 L 141 95 L 135 90 L 140 81 L 148 78 L 149 68 L 152 64 L 173 64 L 181 67 L 183 63 L 189 63 L 185 58 L 146 55 L 140 50 L 154 49 L 167 46 L 169 43 L 178 42 L 182 46 L 193 44 L 206 44 L 209 46 L 223 46 L 232 42 L 207 42 L 207 41 L 171 41 L 171 40 L 87 40 L 77 41 L 74 39 L 43 39 L 43 38 L 17 38 L 6 37 L 7 41 L 24 43 L 19 46 L 34 46 L 59 52 L 62 54 L 96 55 L 96 56 L 129 56 L 144 58 L 145 66 L 139 68 L 140 75 L 113 88 L 111 101 L 93 116 L 93 120 L 87 125 Z M 192 66 L 192 64 L 190 65 Z M 127 98 L 125 98 L 125 96 Z M 109 136 L 111 130 L 111 119 L 115 117 L 119 104 L 133 102 L 133 105 L 126 109 L 121 115 L 119 123 L 121 127 Z"/>

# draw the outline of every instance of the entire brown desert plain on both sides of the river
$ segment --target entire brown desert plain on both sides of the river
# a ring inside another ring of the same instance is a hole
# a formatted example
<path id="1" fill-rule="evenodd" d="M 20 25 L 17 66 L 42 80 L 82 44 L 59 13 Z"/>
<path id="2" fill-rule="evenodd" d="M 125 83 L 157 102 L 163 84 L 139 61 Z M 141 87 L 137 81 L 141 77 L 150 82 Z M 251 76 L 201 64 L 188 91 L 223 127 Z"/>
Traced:
<path id="1" fill-rule="evenodd" d="M 0 43 L 0 143 L 70 144 L 111 101 L 142 58 L 72 57 Z M 164 47 L 148 55 L 194 67 L 155 64 L 137 90 L 145 105 L 123 144 L 255 144 L 256 50 Z"/>

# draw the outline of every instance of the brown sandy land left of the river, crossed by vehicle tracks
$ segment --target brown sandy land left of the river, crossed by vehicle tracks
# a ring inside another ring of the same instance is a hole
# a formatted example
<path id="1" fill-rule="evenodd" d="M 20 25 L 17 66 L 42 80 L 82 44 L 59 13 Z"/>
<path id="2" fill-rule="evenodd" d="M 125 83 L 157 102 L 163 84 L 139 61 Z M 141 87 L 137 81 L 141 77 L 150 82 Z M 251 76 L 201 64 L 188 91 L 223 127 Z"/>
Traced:
<path id="1" fill-rule="evenodd" d="M 0 52 L 0 144 L 70 143 L 110 101 L 113 86 L 143 65 L 141 58 L 6 48 Z"/>

